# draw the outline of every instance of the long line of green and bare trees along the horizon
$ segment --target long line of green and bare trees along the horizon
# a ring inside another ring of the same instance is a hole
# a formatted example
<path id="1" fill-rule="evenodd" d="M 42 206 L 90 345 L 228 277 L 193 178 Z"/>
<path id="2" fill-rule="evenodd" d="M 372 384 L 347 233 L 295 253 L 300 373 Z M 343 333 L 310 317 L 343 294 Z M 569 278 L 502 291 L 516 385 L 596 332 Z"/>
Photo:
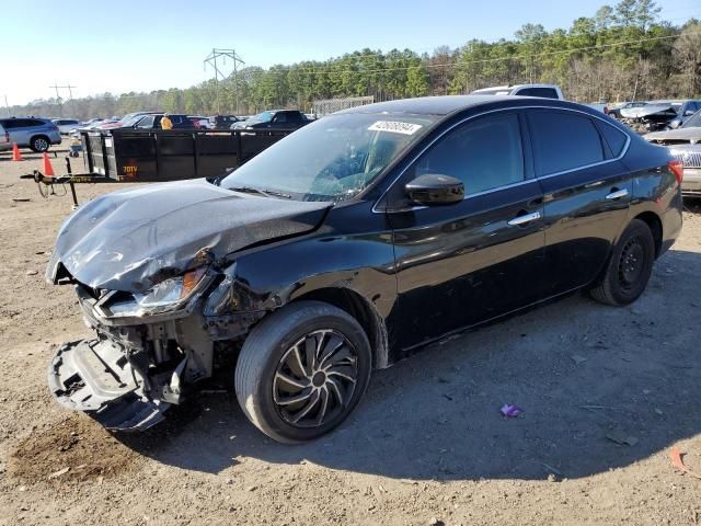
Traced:
<path id="1" fill-rule="evenodd" d="M 515 83 L 560 84 L 568 100 L 618 102 L 690 98 L 701 93 L 701 22 L 660 20 L 653 0 L 621 0 L 568 28 L 525 24 L 513 38 L 471 39 L 432 54 L 361 49 L 324 61 L 268 69 L 246 67 L 237 78 L 187 89 L 104 93 L 64 102 L 11 106 L 12 115 L 89 118 L 161 110 L 189 115 L 252 114 L 273 107 L 311 111 L 315 100 L 372 95 L 376 101 L 464 94 Z"/>

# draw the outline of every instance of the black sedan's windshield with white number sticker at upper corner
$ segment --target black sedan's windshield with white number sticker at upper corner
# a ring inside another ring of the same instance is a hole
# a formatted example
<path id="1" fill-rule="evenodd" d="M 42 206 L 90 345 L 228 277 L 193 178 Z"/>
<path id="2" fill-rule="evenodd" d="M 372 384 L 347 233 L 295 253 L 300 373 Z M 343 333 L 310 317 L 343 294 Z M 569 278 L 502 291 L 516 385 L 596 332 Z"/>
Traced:
<path id="1" fill-rule="evenodd" d="M 221 186 L 299 201 L 349 199 L 368 186 L 436 117 L 330 115 L 298 129 L 228 175 Z"/>

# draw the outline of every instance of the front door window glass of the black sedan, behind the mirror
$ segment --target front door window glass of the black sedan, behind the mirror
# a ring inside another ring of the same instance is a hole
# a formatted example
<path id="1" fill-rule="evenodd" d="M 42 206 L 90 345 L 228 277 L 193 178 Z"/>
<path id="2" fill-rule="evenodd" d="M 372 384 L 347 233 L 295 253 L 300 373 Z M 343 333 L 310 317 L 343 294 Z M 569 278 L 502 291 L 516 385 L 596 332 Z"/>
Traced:
<path id="1" fill-rule="evenodd" d="M 440 139 L 416 163 L 414 176 L 457 178 L 466 195 L 524 181 L 524 149 L 518 116 L 471 121 Z"/>

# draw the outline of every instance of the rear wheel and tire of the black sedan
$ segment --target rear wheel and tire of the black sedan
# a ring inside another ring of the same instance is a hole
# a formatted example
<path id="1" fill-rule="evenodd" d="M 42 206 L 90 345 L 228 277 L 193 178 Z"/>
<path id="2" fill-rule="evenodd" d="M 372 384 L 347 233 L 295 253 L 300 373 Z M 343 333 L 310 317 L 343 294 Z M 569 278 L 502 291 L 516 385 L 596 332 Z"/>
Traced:
<path id="1" fill-rule="evenodd" d="M 589 291 L 597 301 L 623 306 L 645 290 L 655 261 L 655 240 L 650 227 L 633 219 L 619 239 L 604 276 Z"/>

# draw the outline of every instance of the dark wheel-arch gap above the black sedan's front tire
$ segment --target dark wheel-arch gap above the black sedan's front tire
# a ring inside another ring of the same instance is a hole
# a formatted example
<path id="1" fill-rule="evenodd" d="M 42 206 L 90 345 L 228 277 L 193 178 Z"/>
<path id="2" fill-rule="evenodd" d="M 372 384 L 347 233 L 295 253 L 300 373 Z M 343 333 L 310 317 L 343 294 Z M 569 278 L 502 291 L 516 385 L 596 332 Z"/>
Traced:
<path id="1" fill-rule="evenodd" d="M 357 320 L 370 342 L 372 368 L 389 366 L 389 339 L 384 320 L 375 306 L 347 287 L 322 287 L 296 297 L 290 304 L 303 300 L 323 301 L 347 312 Z"/>

